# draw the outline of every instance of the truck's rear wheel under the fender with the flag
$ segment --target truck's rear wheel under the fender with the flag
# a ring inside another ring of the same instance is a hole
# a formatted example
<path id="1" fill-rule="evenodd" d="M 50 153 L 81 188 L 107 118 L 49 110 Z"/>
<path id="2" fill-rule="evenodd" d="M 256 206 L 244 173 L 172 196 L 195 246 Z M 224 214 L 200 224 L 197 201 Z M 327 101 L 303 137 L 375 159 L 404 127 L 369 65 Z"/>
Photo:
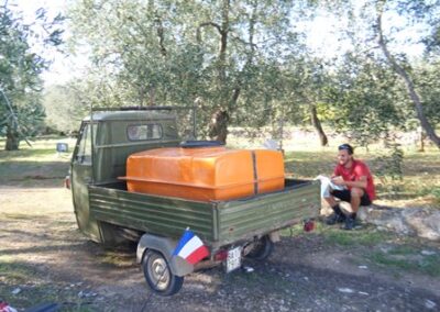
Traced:
<path id="1" fill-rule="evenodd" d="M 142 269 L 150 288 L 161 296 L 172 296 L 178 292 L 184 283 L 184 277 L 175 276 L 165 257 L 155 250 L 145 252 Z"/>

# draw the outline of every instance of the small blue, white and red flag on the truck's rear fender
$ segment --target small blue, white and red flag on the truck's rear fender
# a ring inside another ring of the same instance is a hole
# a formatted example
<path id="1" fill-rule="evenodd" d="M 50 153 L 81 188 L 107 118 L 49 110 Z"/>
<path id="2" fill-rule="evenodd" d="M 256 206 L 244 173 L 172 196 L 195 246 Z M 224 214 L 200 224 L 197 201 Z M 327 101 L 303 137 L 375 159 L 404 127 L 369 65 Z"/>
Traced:
<path id="1" fill-rule="evenodd" d="M 182 235 L 180 241 L 177 243 L 173 256 L 179 256 L 191 265 L 195 265 L 202 258 L 209 256 L 209 250 L 204 245 L 204 242 L 187 229 L 185 230 L 184 235 Z"/>

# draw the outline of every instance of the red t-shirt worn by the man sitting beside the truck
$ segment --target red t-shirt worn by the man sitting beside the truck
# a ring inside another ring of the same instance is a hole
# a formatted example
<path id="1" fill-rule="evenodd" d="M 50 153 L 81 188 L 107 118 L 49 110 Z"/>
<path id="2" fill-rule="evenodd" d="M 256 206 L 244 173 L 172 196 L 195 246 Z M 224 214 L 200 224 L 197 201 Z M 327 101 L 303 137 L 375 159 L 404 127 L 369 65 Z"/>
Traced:
<path id="1" fill-rule="evenodd" d="M 341 176 L 344 181 L 358 181 L 361 177 L 366 177 L 366 193 L 370 197 L 370 200 L 376 199 L 376 190 L 374 188 L 373 176 L 370 172 L 369 166 L 361 160 L 353 159 L 352 166 L 346 169 L 344 166 L 339 165 L 334 168 L 334 176 Z M 349 187 L 349 189 L 351 189 Z"/>

